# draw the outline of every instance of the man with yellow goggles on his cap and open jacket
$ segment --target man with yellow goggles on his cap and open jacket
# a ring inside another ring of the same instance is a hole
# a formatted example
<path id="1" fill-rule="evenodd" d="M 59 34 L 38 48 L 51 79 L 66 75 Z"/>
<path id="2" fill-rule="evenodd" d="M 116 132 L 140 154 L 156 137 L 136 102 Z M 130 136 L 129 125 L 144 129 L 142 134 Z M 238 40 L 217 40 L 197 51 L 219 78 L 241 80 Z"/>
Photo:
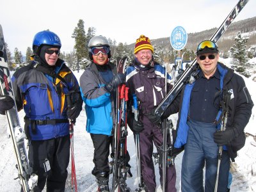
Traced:
<path id="1" fill-rule="evenodd" d="M 243 77 L 218 59 L 219 50 L 214 42 L 206 40 L 198 45 L 198 79 L 184 86 L 162 116 L 179 111 L 174 147 L 184 148 L 181 189 L 185 192 L 214 191 L 220 146 L 223 153 L 218 192 L 227 191 L 230 159 L 234 161 L 237 150 L 244 146 L 244 127 L 252 114 L 253 101 Z M 225 92 L 231 94 L 227 129 L 220 131 Z"/>

